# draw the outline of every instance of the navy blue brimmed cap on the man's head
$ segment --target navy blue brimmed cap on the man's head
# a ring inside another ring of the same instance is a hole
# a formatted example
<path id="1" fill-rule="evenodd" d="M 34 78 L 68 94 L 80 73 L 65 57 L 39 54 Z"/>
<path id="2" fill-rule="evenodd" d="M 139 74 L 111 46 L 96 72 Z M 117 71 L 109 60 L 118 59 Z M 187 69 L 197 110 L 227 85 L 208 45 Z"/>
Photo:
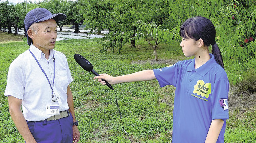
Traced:
<path id="1" fill-rule="evenodd" d="M 32 24 L 46 21 L 49 19 L 54 19 L 56 22 L 58 22 L 58 21 L 65 20 L 66 15 L 63 13 L 52 14 L 49 10 L 45 8 L 36 8 L 29 11 L 24 19 L 26 34 L 27 34 L 27 30 Z M 32 39 L 28 37 L 28 34 L 27 34 L 27 39 L 28 39 L 28 45 L 30 45 L 32 43 Z"/>

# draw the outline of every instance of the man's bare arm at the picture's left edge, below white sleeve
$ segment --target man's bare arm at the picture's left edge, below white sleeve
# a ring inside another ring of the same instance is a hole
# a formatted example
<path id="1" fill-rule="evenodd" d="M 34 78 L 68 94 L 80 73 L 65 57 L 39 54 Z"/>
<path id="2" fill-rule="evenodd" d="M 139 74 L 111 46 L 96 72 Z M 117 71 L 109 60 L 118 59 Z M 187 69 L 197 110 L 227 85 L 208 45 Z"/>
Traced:
<path id="1" fill-rule="evenodd" d="M 8 96 L 8 102 L 10 115 L 19 133 L 22 135 L 22 137 L 27 143 L 36 142 L 29 130 L 28 124 L 23 116 L 22 110 L 20 109 L 20 107 L 22 106 L 22 100 L 15 98 L 13 96 Z"/>

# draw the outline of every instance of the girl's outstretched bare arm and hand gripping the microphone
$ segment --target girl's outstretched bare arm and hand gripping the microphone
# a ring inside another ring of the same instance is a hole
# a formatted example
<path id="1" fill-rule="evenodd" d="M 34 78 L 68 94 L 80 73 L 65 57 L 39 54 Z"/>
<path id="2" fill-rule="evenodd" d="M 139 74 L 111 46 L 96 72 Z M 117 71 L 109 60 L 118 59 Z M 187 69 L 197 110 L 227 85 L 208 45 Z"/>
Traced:
<path id="1" fill-rule="evenodd" d="M 105 81 L 102 81 L 101 79 L 105 79 L 110 84 L 118 84 L 123 82 L 135 82 L 135 81 L 146 81 L 146 80 L 152 80 L 156 79 L 155 74 L 153 70 L 143 70 L 139 72 L 135 72 L 132 74 L 122 75 L 113 77 L 108 74 L 100 74 L 100 76 L 95 76 L 94 79 L 98 79 L 98 81 L 105 85 Z"/>

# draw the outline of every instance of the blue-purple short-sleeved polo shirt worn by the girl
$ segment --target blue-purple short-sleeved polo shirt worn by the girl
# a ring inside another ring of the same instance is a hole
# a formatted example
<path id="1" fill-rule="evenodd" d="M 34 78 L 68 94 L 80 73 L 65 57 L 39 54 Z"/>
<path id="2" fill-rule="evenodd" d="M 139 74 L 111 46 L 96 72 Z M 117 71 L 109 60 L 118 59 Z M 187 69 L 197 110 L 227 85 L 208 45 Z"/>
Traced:
<path id="1" fill-rule="evenodd" d="M 172 66 L 154 69 L 160 87 L 176 87 L 173 113 L 173 143 L 205 142 L 211 121 L 223 119 L 217 142 L 224 142 L 228 116 L 229 81 L 214 55 L 195 69 L 195 59 L 179 61 Z"/>

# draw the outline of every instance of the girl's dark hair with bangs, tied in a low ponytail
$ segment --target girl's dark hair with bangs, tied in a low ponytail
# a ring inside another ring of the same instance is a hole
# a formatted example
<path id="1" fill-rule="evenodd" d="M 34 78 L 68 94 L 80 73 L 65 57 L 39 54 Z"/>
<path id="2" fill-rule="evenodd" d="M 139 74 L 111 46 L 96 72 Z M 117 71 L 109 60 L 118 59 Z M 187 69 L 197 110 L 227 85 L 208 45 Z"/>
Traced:
<path id="1" fill-rule="evenodd" d="M 202 38 L 207 47 L 212 45 L 212 54 L 214 55 L 215 61 L 224 69 L 221 51 L 215 42 L 215 35 L 214 24 L 209 19 L 201 16 L 187 19 L 180 27 L 181 37 L 189 37 L 196 41 Z"/>

